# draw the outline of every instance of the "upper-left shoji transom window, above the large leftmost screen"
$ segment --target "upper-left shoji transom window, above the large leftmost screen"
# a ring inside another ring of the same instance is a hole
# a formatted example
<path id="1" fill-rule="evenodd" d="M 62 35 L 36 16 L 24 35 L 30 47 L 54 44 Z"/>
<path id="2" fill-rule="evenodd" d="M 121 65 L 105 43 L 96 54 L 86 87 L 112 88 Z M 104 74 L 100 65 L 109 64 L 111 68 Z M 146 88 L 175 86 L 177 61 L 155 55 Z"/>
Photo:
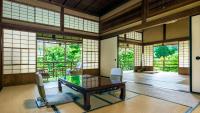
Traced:
<path id="1" fill-rule="evenodd" d="M 6 0 L 3 1 L 3 17 L 60 26 L 60 13 Z"/>

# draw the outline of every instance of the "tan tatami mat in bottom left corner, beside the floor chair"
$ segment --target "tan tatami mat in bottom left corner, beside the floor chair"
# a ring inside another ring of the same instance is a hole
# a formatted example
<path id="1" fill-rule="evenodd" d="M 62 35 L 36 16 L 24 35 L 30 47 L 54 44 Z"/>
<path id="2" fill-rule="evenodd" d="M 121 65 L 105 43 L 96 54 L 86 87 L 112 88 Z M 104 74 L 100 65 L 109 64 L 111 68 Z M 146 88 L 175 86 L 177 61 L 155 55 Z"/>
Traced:
<path id="1" fill-rule="evenodd" d="M 35 85 L 5 87 L 0 92 L 0 113 L 54 113 L 52 108 L 38 109 Z"/>

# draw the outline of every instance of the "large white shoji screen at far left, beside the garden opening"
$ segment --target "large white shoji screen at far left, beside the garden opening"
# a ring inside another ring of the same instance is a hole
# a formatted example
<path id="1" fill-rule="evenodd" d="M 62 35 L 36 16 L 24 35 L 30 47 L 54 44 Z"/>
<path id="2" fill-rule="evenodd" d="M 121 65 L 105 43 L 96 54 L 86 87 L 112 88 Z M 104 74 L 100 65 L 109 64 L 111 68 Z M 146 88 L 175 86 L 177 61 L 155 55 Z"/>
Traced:
<path id="1" fill-rule="evenodd" d="M 3 32 L 3 74 L 35 72 L 36 34 L 8 29 Z"/>

